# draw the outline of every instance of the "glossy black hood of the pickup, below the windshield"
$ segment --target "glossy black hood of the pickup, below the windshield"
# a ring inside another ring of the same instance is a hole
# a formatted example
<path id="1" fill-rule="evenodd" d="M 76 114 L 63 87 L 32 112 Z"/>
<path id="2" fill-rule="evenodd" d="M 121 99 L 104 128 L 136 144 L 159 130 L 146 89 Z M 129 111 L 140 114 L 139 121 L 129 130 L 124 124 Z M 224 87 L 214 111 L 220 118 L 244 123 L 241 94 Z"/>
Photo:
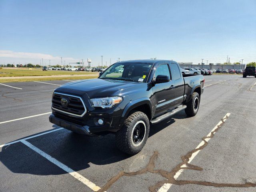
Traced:
<path id="1" fill-rule="evenodd" d="M 99 98 L 107 96 L 123 95 L 124 90 L 134 86 L 142 86 L 141 82 L 122 81 L 122 80 L 106 80 L 106 79 L 89 79 L 77 82 L 64 84 L 56 89 L 67 93 L 72 93 L 72 90 L 86 93 L 89 98 Z M 146 86 L 146 84 L 145 84 Z"/>

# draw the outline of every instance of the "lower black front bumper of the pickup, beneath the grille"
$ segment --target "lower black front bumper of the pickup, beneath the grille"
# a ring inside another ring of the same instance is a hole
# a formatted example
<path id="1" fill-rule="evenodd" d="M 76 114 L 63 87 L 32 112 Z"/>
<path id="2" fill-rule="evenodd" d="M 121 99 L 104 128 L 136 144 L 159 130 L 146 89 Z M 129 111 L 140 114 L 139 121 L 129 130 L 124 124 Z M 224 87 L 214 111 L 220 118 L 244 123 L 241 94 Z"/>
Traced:
<path id="1" fill-rule="evenodd" d="M 51 123 L 56 124 L 60 127 L 63 127 L 65 129 L 68 129 L 72 132 L 76 132 L 78 134 L 84 134 L 84 135 L 88 135 L 88 136 L 97 136 L 93 133 L 90 132 L 89 130 L 89 126 L 85 125 L 85 126 L 80 126 L 74 123 L 70 123 L 68 121 L 62 120 L 60 118 L 57 118 L 54 116 L 54 114 L 51 114 L 49 116 L 49 120 Z"/>

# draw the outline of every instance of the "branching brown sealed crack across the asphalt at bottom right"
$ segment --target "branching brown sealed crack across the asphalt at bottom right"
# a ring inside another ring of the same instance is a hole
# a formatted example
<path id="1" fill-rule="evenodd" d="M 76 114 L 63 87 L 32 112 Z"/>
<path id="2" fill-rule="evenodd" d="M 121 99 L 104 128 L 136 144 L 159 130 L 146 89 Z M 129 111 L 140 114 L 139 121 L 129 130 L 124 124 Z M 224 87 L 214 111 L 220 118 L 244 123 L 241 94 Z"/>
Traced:
<path id="1" fill-rule="evenodd" d="M 208 142 L 206 139 L 213 138 L 214 134 L 221 128 L 221 126 L 224 124 L 224 120 L 227 119 L 228 116 L 225 116 L 221 120 L 221 124 L 217 126 L 216 129 L 214 129 L 211 133 L 210 136 L 205 136 L 202 138 L 204 141 L 204 144 L 201 145 L 200 147 L 188 152 L 186 155 L 181 156 L 182 163 L 176 165 L 171 172 L 168 172 L 166 170 L 162 169 L 157 169 L 155 170 L 155 161 L 158 158 L 159 152 L 154 151 L 154 154 L 150 157 L 149 162 L 145 168 L 142 168 L 141 170 L 138 170 L 136 172 L 124 172 L 120 171 L 118 174 L 113 176 L 98 192 L 105 192 L 108 190 L 117 180 L 119 180 L 122 176 L 136 176 L 140 174 L 145 174 L 147 172 L 154 173 L 154 174 L 159 174 L 162 177 L 166 178 L 165 180 L 159 181 L 156 183 L 154 186 L 150 186 L 148 189 L 150 192 L 156 192 L 158 188 L 162 187 L 165 183 L 169 184 L 176 184 L 176 185 L 185 185 L 185 184 L 197 184 L 197 185 L 203 185 L 203 186 L 215 186 L 215 187 L 256 187 L 256 184 L 251 183 L 251 182 L 245 182 L 244 184 L 232 184 L 232 183 L 214 183 L 214 182 L 207 182 L 207 181 L 196 181 L 196 180 L 176 180 L 174 176 L 176 175 L 177 172 L 180 172 L 184 169 L 189 169 L 189 170 L 203 170 L 203 168 L 190 164 L 189 159 L 192 157 L 192 155 L 199 151 L 204 149 Z"/>

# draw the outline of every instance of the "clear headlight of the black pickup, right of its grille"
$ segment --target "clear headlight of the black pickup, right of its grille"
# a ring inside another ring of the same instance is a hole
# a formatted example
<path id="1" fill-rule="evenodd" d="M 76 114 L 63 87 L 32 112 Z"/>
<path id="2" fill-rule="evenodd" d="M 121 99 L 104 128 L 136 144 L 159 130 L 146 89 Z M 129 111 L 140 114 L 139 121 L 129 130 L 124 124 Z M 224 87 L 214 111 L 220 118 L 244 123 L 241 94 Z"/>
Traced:
<path id="1" fill-rule="evenodd" d="M 122 101 L 122 97 L 105 97 L 90 99 L 93 107 L 112 108 Z"/>

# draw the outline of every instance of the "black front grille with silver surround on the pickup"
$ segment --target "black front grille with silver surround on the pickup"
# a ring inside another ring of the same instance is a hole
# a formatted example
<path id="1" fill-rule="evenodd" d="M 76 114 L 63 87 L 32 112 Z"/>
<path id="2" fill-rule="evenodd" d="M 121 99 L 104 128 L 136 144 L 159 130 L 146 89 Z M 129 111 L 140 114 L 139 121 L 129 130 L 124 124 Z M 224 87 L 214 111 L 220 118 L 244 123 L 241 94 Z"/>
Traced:
<path id="1" fill-rule="evenodd" d="M 68 104 L 62 105 L 61 99 L 66 98 Z M 52 108 L 66 114 L 82 117 L 86 113 L 86 107 L 82 98 L 74 95 L 63 94 L 55 92 L 52 96 Z"/>

